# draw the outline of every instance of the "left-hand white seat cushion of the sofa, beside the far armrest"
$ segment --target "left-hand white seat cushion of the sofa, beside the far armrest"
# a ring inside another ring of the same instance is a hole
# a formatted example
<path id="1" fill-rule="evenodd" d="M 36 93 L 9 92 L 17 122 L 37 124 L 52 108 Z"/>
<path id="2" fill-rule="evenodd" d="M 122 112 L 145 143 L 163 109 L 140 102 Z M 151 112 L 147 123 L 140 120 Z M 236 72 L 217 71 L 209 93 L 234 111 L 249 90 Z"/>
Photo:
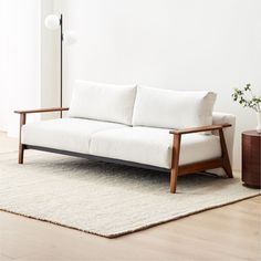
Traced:
<path id="1" fill-rule="evenodd" d="M 88 154 L 91 135 L 126 125 L 82 118 L 59 118 L 29 123 L 22 127 L 22 143 Z"/>

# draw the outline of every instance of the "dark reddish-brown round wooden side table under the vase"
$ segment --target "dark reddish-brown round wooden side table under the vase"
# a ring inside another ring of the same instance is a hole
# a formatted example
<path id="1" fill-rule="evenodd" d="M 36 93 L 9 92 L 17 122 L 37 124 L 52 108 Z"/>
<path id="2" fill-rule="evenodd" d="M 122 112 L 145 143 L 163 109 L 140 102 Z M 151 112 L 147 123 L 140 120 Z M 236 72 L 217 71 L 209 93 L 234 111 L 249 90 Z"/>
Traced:
<path id="1" fill-rule="evenodd" d="M 261 134 L 242 133 L 242 180 L 246 186 L 261 188 Z"/>

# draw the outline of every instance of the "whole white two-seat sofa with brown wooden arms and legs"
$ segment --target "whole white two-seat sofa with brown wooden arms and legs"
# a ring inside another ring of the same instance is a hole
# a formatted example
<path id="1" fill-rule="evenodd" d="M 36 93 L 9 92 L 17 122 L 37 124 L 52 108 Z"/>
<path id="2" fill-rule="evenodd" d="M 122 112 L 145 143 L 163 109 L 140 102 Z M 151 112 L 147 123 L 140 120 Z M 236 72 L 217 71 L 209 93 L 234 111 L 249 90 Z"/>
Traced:
<path id="1" fill-rule="evenodd" d="M 232 177 L 234 116 L 213 113 L 215 101 L 212 92 L 76 81 L 70 108 L 15 111 L 19 163 L 32 148 L 167 170 L 171 192 L 179 175 L 222 168 Z M 27 114 L 55 111 L 69 116 L 25 123 Z"/>

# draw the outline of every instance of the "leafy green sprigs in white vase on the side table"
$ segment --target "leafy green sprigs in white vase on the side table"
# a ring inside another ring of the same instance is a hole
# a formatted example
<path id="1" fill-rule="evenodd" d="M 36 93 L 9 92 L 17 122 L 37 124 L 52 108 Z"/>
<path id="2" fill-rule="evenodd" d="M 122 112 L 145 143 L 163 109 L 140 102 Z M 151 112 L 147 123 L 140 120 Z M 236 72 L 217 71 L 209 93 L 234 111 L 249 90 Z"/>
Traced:
<path id="1" fill-rule="evenodd" d="M 238 102 L 243 107 L 255 111 L 258 119 L 257 132 L 261 134 L 261 95 L 254 95 L 251 84 L 248 83 L 243 88 L 234 88 L 232 97 L 234 102 Z"/>

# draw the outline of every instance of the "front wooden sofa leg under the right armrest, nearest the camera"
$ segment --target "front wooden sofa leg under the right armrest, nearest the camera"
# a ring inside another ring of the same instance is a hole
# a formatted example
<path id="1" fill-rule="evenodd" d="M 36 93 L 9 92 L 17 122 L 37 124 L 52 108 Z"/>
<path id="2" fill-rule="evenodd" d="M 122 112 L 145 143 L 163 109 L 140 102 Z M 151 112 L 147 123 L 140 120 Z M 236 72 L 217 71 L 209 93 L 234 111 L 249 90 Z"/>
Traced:
<path id="1" fill-rule="evenodd" d="M 181 135 L 174 134 L 173 142 L 173 161 L 171 161 L 171 173 L 170 173 L 170 192 L 175 194 L 177 188 L 177 178 L 178 178 L 178 161 L 180 154 L 180 143 Z"/>

